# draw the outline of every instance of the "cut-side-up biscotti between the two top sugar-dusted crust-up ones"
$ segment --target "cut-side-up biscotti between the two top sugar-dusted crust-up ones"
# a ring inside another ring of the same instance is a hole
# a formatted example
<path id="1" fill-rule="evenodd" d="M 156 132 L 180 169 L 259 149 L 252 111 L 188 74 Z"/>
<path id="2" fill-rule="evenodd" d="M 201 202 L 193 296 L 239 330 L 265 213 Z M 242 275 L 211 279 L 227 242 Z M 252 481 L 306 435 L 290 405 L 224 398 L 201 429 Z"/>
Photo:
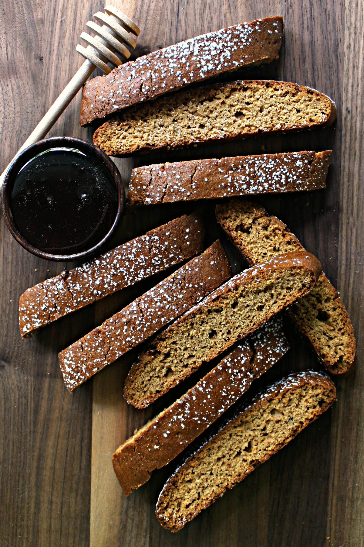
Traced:
<path id="1" fill-rule="evenodd" d="M 331 125 L 329 97 L 290 82 L 239 80 L 183 90 L 131 107 L 93 142 L 111 156 Z"/>

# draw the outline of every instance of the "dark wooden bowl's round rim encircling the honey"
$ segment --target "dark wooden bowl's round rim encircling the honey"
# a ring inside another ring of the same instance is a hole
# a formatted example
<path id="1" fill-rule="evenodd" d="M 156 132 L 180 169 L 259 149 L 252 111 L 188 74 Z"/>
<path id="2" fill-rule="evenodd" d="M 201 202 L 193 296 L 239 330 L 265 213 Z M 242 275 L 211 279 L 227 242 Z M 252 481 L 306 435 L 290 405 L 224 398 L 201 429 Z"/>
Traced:
<path id="1" fill-rule="evenodd" d="M 44 152 L 48 148 L 55 148 L 55 147 L 76 148 L 77 150 L 80 150 L 86 155 L 97 156 L 98 160 L 102 162 L 105 165 L 105 167 L 108 169 L 108 171 L 110 172 L 117 190 L 118 206 L 117 206 L 117 212 L 116 212 L 114 223 L 112 224 L 108 233 L 102 238 L 101 241 L 97 243 L 97 245 L 94 245 L 93 247 L 87 249 L 86 251 L 82 251 L 81 253 L 75 253 L 75 254 L 69 254 L 69 255 L 51 254 L 51 253 L 46 253 L 44 251 L 40 251 L 40 249 L 37 249 L 37 247 L 33 247 L 33 245 L 31 245 L 25 239 L 25 237 L 23 237 L 22 234 L 20 234 L 19 230 L 17 230 L 14 223 L 13 215 L 11 214 L 11 210 L 10 210 L 11 192 L 13 191 L 16 176 L 21 170 L 21 168 L 28 161 L 32 160 L 34 156 L 36 156 L 40 152 Z M 27 251 L 29 251 L 29 253 L 33 253 L 37 255 L 37 257 L 45 258 L 46 260 L 71 261 L 71 260 L 83 259 L 88 257 L 91 254 L 97 253 L 98 251 L 100 251 L 100 248 L 103 247 L 104 243 L 109 239 L 109 237 L 114 233 L 124 213 L 125 190 L 124 190 L 121 174 L 118 168 L 116 167 L 116 165 L 114 164 L 114 162 L 111 161 L 109 156 L 107 156 L 102 150 L 94 146 L 94 144 L 91 144 L 87 141 L 82 141 L 81 139 L 73 138 L 73 137 L 51 137 L 51 138 L 46 138 L 43 141 L 39 141 L 35 144 L 32 144 L 32 146 L 29 146 L 28 148 L 25 148 L 11 162 L 4 178 L 2 195 L 1 195 L 1 206 L 3 210 L 5 222 L 9 228 L 10 234 L 13 237 L 15 237 L 16 241 L 20 243 L 20 245 L 24 247 Z"/>

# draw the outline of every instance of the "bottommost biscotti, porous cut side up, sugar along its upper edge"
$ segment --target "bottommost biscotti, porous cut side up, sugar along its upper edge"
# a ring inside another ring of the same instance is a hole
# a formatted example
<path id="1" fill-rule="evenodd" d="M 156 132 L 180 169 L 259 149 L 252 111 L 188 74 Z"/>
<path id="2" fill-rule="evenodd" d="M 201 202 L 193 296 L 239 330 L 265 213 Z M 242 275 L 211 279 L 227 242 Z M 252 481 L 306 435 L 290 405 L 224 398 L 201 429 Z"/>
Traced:
<path id="1" fill-rule="evenodd" d="M 156 507 L 160 524 L 178 532 L 335 400 L 332 380 L 313 371 L 291 374 L 268 387 L 205 440 L 168 479 Z"/>

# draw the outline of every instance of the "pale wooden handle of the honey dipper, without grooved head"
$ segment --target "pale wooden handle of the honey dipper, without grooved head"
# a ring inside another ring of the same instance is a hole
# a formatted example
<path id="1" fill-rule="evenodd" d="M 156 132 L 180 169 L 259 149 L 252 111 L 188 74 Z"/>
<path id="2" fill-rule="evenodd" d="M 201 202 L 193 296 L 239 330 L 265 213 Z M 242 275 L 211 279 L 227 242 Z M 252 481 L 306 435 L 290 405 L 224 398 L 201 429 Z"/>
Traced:
<path id="1" fill-rule="evenodd" d="M 95 65 L 91 61 L 86 60 L 83 63 L 83 65 L 77 70 L 74 77 L 65 86 L 61 94 L 56 98 L 55 102 L 53 102 L 48 112 L 40 120 L 37 127 L 35 127 L 35 129 L 29 135 L 23 146 L 17 151 L 13 160 L 16 158 L 17 154 L 22 152 L 22 150 L 27 148 L 27 146 L 38 142 L 40 139 L 46 136 L 47 132 L 56 123 L 63 110 L 68 106 L 73 97 L 76 95 L 77 91 L 81 89 L 87 78 L 91 76 L 94 69 Z M 11 164 L 11 161 L 9 165 Z M 0 176 L 0 189 L 3 185 L 5 173 L 7 172 L 9 165 L 7 166 L 7 168 L 5 168 Z"/>

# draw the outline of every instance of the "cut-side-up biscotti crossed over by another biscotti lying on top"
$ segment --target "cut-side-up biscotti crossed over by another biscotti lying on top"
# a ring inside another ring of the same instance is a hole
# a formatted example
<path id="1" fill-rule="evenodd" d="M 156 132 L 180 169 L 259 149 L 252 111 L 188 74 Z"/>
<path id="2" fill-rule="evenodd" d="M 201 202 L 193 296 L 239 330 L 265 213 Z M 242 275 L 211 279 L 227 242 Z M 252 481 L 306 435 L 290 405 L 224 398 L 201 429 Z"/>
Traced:
<path id="1" fill-rule="evenodd" d="M 305 251 L 281 220 L 255 203 L 231 200 L 216 207 L 216 217 L 250 264 L 262 263 L 279 253 Z M 355 359 L 354 329 L 325 274 L 288 313 L 326 369 L 331 374 L 347 373 Z"/>

